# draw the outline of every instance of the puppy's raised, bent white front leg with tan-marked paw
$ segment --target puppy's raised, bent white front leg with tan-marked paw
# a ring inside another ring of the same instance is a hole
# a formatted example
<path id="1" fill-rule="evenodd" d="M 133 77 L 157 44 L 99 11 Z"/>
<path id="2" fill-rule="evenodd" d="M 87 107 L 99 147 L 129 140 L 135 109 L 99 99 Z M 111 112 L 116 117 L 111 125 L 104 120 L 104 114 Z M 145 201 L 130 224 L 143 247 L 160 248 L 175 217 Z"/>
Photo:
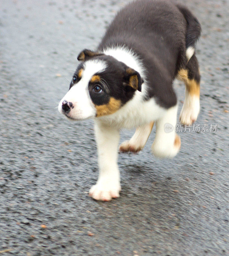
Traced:
<path id="1" fill-rule="evenodd" d="M 166 110 L 156 121 L 156 136 L 152 152 L 158 157 L 174 157 L 180 150 L 180 137 L 175 132 L 177 106 Z"/>

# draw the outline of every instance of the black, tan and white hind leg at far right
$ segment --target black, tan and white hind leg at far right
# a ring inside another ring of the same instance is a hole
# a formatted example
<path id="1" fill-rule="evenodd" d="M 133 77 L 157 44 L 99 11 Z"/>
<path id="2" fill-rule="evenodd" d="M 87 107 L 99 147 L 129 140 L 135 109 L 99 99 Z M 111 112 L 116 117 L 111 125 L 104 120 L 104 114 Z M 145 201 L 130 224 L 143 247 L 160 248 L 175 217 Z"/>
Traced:
<path id="1" fill-rule="evenodd" d="M 186 68 L 178 71 L 177 78 L 185 83 L 185 101 L 180 112 L 181 124 L 192 124 L 200 111 L 200 74 L 195 54 Z"/>

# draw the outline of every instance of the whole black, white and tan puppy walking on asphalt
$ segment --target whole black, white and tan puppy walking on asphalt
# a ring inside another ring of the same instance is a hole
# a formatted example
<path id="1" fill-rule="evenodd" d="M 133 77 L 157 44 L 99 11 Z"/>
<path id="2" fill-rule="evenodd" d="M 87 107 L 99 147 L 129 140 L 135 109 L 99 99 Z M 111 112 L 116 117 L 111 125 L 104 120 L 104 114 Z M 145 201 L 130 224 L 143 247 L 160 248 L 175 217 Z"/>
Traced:
<path id="1" fill-rule="evenodd" d="M 177 98 L 173 80 L 184 81 L 181 124 L 199 113 L 200 74 L 195 43 L 201 27 L 183 5 L 138 0 L 118 12 L 95 51 L 83 50 L 59 111 L 72 120 L 93 118 L 99 178 L 89 195 L 108 201 L 121 190 L 117 164 L 119 130 L 136 128 L 119 150 L 140 151 L 156 123 L 152 153 L 174 157 L 180 149 L 175 133 Z M 165 132 L 165 124 L 173 126 Z"/>

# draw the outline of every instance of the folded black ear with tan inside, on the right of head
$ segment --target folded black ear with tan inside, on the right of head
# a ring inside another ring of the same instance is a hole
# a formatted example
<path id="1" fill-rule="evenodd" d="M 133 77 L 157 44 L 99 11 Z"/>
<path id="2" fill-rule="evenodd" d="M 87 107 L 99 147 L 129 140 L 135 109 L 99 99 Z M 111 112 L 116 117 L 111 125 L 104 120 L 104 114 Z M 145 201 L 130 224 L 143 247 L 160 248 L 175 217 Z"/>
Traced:
<path id="1" fill-rule="evenodd" d="M 134 90 L 141 92 L 141 85 L 144 82 L 140 74 L 133 68 L 127 68 L 124 76 L 124 84 L 132 87 Z"/>

